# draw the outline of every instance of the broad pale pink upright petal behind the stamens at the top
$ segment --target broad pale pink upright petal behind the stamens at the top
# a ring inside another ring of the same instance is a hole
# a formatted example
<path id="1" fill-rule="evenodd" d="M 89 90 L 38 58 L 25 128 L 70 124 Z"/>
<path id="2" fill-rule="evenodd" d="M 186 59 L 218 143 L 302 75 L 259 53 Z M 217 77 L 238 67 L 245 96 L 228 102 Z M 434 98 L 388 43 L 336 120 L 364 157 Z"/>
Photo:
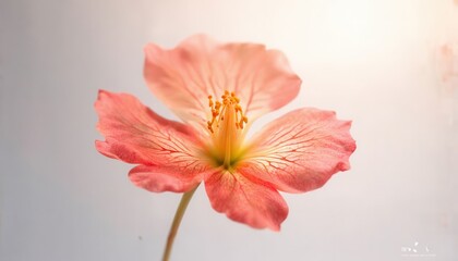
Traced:
<path id="1" fill-rule="evenodd" d="M 301 84 L 285 55 L 263 45 L 219 44 L 196 35 L 171 50 L 149 44 L 145 54 L 153 92 L 185 122 L 201 126 L 208 120 L 208 95 L 234 91 L 253 120 L 287 104 Z"/>

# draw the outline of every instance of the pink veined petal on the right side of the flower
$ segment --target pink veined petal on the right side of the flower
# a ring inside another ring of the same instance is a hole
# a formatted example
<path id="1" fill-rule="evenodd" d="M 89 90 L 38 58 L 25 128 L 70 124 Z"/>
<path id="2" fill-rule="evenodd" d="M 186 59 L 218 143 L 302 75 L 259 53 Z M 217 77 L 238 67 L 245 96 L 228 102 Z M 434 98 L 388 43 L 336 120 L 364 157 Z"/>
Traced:
<path id="1" fill-rule="evenodd" d="M 350 169 L 355 149 L 351 122 L 334 112 L 299 109 L 268 124 L 255 137 L 238 171 L 266 181 L 279 190 L 309 191 L 333 174 Z"/>

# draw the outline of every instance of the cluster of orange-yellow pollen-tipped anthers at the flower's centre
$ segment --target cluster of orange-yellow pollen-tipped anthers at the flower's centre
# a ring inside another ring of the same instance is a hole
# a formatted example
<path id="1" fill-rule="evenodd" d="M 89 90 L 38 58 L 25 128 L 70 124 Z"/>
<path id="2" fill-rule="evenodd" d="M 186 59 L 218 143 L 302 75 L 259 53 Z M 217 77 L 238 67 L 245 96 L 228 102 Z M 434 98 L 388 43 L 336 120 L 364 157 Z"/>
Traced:
<path id="1" fill-rule="evenodd" d="M 210 133 L 215 132 L 215 127 L 219 127 L 220 123 L 225 120 L 224 115 L 228 108 L 233 108 L 236 113 L 236 128 L 243 129 L 243 125 L 248 123 L 248 117 L 243 114 L 242 107 L 239 104 L 240 99 L 236 94 L 225 90 L 221 100 L 214 102 L 213 96 L 208 96 L 208 107 L 212 111 L 212 121 L 207 122 L 207 128 Z"/>

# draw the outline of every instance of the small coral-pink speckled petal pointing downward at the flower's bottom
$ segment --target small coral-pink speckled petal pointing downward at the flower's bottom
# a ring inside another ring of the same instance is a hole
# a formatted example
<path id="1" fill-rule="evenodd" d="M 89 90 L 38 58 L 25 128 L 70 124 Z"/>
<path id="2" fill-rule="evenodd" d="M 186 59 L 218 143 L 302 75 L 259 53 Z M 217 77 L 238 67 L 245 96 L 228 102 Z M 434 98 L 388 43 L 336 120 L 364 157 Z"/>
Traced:
<path id="1" fill-rule="evenodd" d="M 250 175 L 220 171 L 209 175 L 205 189 L 212 207 L 237 222 L 279 231 L 288 206 L 270 184 Z"/>

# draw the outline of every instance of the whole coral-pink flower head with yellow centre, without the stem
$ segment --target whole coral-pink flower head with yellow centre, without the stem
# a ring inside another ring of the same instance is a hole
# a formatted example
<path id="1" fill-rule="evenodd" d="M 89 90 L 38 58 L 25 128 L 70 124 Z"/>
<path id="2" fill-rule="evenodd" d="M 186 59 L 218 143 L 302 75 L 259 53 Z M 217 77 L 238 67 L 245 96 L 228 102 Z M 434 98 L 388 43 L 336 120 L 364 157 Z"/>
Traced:
<path id="1" fill-rule="evenodd" d="M 278 191 L 316 189 L 350 169 L 351 122 L 330 111 L 298 109 L 245 138 L 251 123 L 299 92 L 281 52 L 198 35 L 171 50 L 149 44 L 145 54 L 148 87 L 184 123 L 126 94 L 100 90 L 95 103 L 106 138 L 97 150 L 137 164 L 129 177 L 138 187 L 185 192 L 204 182 L 216 211 L 278 231 L 288 215 Z"/>

